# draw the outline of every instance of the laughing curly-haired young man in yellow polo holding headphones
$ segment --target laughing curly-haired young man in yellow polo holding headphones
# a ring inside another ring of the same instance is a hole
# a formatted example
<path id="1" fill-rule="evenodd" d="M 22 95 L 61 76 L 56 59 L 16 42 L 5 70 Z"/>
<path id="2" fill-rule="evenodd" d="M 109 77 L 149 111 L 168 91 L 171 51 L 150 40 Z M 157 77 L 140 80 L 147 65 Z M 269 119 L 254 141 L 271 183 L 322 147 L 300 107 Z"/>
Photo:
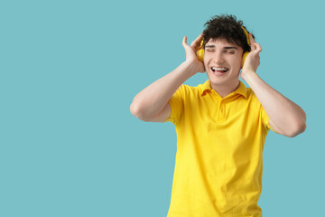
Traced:
<path id="1" fill-rule="evenodd" d="M 171 121 L 177 153 L 168 217 L 262 216 L 263 148 L 271 128 L 295 137 L 304 111 L 257 74 L 260 44 L 232 15 L 212 17 L 190 45 L 186 61 L 138 93 L 131 113 L 144 121 Z M 245 28 L 246 29 L 246 28 Z M 196 52 L 204 39 L 204 63 Z M 243 53 L 249 52 L 242 67 Z M 275 67 L 276 68 L 276 67 Z M 250 88 L 239 80 L 246 80 Z M 209 80 L 182 84 L 197 72 Z"/>

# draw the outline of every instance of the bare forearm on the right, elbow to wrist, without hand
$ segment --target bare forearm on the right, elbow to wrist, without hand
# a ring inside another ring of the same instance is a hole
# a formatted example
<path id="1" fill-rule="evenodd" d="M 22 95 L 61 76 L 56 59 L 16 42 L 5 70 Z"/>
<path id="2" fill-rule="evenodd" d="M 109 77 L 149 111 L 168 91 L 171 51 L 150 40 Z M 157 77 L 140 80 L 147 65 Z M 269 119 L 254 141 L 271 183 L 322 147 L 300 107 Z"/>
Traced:
<path id="1" fill-rule="evenodd" d="M 265 83 L 255 72 L 245 78 L 266 114 L 283 135 L 298 135 L 306 127 L 306 114 L 297 104 Z"/>

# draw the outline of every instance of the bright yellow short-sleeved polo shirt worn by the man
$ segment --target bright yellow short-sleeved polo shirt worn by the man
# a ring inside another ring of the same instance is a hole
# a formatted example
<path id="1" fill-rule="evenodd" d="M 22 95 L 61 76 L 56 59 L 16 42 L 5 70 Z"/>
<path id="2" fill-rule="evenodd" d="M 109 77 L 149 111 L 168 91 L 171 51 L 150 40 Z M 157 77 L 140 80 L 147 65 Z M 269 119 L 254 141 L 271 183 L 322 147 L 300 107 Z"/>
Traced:
<path id="1" fill-rule="evenodd" d="M 257 201 L 271 127 L 253 90 L 240 81 L 221 98 L 207 80 L 182 84 L 169 103 L 177 152 L 167 217 L 262 216 Z"/>

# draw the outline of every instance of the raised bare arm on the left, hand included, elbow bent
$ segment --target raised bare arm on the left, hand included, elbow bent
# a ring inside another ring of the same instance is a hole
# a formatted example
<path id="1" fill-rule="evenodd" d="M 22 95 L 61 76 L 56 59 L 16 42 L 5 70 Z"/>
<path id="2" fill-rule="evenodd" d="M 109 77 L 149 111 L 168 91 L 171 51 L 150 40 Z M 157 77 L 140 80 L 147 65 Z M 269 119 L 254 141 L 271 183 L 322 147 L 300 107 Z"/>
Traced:
<path id="1" fill-rule="evenodd" d="M 171 109 L 168 100 L 172 98 L 172 94 L 191 76 L 197 72 L 204 72 L 203 63 L 196 56 L 201 40 L 202 35 L 200 34 L 188 45 L 187 37 L 183 38 L 182 45 L 185 49 L 186 61 L 139 92 L 130 107 L 132 115 L 144 121 L 154 122 L 163 122 L 170 117 Z"/>

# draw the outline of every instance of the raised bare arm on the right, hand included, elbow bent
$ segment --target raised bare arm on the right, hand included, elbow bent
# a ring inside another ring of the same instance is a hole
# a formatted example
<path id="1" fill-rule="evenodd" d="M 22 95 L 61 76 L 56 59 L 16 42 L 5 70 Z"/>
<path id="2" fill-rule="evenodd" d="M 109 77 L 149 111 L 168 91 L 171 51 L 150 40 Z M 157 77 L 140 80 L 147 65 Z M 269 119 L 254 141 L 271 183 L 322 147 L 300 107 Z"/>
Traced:
<path id="1" fill-rule="evenodd" d="M 251 34 L 249 36 L 252 52 L 246 58 L 241 78 L 246 80 L 249 87 L 255 92 L 274 131 L 285 137 L 295 137 L 306 129 L 306 114 L 302 108 L 274 90 L 255 73 L 259 65 L 259 52 L 262 51 L 262 48 L 259 43 L 255 42 Z"/>

